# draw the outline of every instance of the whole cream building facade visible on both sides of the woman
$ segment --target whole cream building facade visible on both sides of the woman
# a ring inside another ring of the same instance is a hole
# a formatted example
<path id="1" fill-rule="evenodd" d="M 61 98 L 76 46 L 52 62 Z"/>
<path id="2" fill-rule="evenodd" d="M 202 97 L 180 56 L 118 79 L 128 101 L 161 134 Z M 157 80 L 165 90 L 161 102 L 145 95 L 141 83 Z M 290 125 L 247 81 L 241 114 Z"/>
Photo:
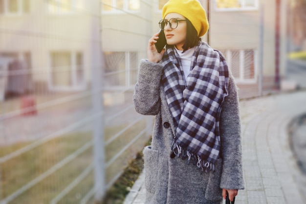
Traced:
<path id="1" fill-rule="evenodd" d="M 102 0 L 96 13 L 94 1 L 0 0 L 0 55 L 26 62 L 29 91 L 78 91 L 90 85 L 90 47 L 102 43 L 104 87 L 132 88 L 165 2 Z M 261 76 L 264 88 L 275 87 L 285 73 L 286 1 L 200 2 L 210 23 L 202 40 L 223 52 L 240 91 L 258 91 Z M 92 39 L 93 21 L 100 40 Z"/>

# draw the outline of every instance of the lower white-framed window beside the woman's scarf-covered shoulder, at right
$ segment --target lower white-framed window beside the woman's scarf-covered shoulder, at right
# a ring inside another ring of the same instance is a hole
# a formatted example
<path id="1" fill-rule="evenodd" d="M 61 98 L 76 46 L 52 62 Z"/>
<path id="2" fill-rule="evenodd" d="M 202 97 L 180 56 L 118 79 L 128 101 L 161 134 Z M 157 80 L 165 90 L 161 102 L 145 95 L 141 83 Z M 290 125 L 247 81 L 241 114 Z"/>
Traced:
<path id="1" fill-rule="evenodd" d="M 220 50 L 226 58 L 229 69 L 234 78 L 240 82 L 254 82 L 256 71 L 255 51 L 245 50 Z"/>

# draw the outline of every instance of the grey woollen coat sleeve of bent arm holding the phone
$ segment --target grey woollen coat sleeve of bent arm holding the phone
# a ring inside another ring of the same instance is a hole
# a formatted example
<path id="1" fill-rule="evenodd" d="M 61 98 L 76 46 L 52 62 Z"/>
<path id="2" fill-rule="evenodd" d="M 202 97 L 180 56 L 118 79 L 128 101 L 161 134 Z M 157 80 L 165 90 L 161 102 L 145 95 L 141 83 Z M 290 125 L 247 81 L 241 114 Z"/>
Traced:
<path id="1" fill-rule="evenodd" d="M 138 82 L 135 85 L 133 103 L 136 112 L 156 115 L 160 110 L 160 79 L 162 65 L 141 60 Z"/>

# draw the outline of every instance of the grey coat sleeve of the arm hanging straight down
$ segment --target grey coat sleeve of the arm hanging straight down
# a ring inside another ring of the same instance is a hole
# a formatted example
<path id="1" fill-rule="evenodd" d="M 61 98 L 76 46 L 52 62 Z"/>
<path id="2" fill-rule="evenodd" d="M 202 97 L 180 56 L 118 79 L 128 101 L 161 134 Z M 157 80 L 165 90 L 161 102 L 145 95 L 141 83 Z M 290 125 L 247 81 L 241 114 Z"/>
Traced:
<path id="1" fill-rule="evenodd" d="M 239 100 L 237 87 L 231 75 L 228 92 L 220 117 L 221 156 L 223 158 L 220 188 L 244 189 Z"/>

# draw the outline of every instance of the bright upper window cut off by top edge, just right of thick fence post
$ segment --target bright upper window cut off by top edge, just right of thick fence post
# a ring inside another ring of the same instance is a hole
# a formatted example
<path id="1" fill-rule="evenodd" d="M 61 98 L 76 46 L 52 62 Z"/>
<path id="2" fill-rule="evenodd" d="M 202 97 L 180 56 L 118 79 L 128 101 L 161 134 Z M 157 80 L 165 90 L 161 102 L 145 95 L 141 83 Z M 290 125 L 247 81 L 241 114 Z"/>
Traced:
<path id="1" fill-rule="evenodd" d="M 102 12 L 138 11 L 140 0 L 102 0 Z"/>

